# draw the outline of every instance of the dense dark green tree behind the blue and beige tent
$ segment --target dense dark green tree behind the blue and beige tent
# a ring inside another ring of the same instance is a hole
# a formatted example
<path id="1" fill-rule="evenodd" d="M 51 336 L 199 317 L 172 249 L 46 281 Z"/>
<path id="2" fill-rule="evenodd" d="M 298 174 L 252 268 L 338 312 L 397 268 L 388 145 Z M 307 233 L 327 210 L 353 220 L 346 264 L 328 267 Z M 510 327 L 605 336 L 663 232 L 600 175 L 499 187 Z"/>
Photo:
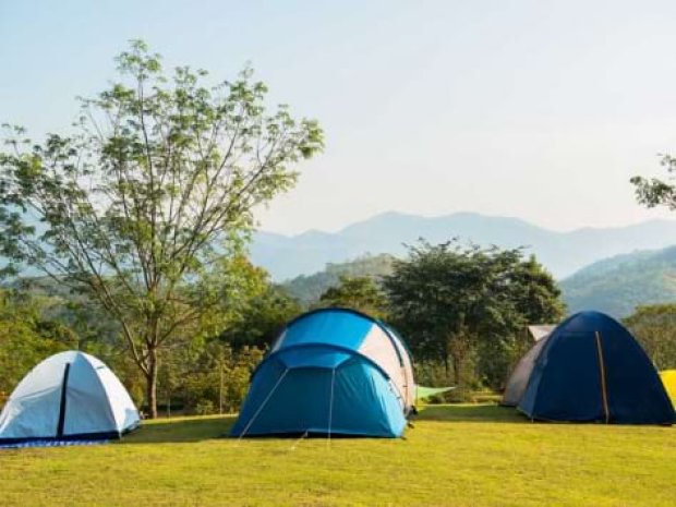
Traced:
<path id="1" fill-rule="evenodd" d="M 505 349 L 523 326 L 563 314 L 552 276 L 522 257 L 519 249 L 422 242 L 385 278 L 390 317 L 419 357 L 452 366 L 456 384 L 483 351 L 484 376 L 495 385 L 508 363 Z"/>

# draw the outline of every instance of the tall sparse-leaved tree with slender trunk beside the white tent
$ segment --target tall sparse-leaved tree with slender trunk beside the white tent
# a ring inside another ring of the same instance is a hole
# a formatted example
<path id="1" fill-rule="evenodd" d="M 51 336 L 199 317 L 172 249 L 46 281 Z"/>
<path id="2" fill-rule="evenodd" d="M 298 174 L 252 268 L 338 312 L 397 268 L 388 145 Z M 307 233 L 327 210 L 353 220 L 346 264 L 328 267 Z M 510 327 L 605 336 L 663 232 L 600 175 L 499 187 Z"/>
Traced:
<path id="1" fill-rule="evenodd" d="M 158 352 L 222 303 L 224 258 L 323 133 L 285 106 L 266 112 L 249 70 L 207 86 L 205 71 L 165 73 L 142 41 L 117 62 L 119 82 L 83 99 L 73 135 L 7 136 L 0 254 L 5 274 L 40 270 L 119 323 L 155 417 Z"/>

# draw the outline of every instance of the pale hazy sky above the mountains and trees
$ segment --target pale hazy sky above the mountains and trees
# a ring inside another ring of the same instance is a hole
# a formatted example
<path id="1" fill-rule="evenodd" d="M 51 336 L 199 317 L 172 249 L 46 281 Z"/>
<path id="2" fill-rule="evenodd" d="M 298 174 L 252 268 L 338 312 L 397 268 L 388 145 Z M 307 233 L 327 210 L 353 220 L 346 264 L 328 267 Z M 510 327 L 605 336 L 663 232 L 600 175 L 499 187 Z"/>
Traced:
<path id="1" fill-rule="evenodd" d="M 251 61 L 325 128 L 267 230 L 386 210 L 616 226 L 669 216 L 628 179 L 676 153 L 675 26 L 673 0 L 0 0 L 0 122 L 68 126 L 144 38 L 219 79 Z"/>

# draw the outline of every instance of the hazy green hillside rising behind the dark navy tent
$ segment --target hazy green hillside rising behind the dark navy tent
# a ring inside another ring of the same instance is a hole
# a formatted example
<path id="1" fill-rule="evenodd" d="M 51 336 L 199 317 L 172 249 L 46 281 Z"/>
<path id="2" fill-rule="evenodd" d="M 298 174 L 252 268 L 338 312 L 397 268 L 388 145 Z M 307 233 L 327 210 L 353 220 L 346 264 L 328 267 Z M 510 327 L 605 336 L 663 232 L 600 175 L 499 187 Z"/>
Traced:
<path id="1" fill-rule="evenodd" d="M 560 288 L 570 312 L 593 309 L 625 317 L 640 304 L 676 303 L 676 246 L 596 262 Z"/>

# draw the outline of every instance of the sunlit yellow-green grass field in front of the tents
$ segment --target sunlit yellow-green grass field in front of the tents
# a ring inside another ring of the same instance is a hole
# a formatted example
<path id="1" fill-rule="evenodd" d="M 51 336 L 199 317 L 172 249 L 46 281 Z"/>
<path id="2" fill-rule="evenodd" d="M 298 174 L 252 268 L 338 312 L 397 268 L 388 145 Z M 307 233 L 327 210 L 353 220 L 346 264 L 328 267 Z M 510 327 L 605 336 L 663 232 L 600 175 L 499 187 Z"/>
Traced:
<path id="1" fill-rule="evenodd" d="M 2 506 L 674 506 L 676 427 L 539 424 L 431 407 L 406 439 L 221 438 L 148 422 L 120 443 L 0 450 Z"/>

